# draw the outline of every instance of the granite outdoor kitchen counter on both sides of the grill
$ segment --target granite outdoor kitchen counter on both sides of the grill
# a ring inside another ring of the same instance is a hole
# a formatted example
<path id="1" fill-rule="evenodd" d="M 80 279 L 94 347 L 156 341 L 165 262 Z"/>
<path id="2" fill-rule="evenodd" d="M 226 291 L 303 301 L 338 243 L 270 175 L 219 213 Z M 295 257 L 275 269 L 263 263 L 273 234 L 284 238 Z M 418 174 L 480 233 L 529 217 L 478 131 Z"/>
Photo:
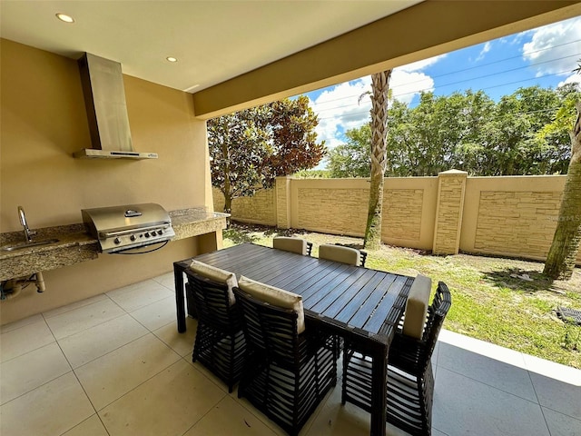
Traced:
<path id="1" fill-rule="evenodd" d="M 228 216 L 226 213 L 209 213 L 203 208 L 182 209 L 169 214 L 175 232 L 173 241 L 225 229 Z M 91 261 L 100 253 L 98 241 L 85 232 L 83 223 L 33 230 L 37 232 L 33 241 L 58 239 L 58 242 L 14 251 L 0 250 L 0 281 Z M 0 246 L 23 241 L 22 231 L 0 233 Z"/>

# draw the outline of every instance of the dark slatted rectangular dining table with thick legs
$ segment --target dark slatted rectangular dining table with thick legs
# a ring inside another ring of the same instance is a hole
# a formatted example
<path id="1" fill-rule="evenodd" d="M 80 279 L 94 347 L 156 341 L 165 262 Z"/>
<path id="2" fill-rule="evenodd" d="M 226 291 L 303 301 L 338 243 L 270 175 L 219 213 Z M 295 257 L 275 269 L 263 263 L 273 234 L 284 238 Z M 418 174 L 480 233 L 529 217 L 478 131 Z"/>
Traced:
<path id="1" fill-rule="evenodd" d="M 305 317 L 372 358 L 371 435 L 386 432 L 389 344 L 412 277 L 284 252 L 253 243 L 173 263 L 178 332 L 185 332 L 183 272 L 192 259 L 302 296 Z"/>

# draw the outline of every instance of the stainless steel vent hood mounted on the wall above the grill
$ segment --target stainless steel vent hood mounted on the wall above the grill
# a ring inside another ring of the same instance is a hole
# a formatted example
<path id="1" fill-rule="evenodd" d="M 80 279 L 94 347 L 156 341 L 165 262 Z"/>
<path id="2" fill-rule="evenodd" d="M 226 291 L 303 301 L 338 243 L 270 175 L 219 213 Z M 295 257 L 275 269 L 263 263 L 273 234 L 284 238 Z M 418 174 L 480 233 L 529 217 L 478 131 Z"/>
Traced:
<path id="1" fill-rule="evenodd" d="M 78 63 L 93 148 L 74 157 L 157 159 L 156 153 L 133 152 L 121 64 L 89 53 Z"/>

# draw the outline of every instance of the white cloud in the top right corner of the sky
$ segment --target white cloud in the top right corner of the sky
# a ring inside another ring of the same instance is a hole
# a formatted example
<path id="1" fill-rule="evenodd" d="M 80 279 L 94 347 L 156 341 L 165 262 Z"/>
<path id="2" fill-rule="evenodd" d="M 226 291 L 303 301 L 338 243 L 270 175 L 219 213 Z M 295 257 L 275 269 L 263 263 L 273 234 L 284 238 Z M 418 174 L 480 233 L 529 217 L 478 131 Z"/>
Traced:
<path id="1" fill-rule="evenodd" d="M 568 75 L 576 68 L 581 53 L 581 17 L 554 25 L 545 25 L 527 34 L 530 42 L 523 45 L 523 58 L 536 70 L 536 75 Z"/>

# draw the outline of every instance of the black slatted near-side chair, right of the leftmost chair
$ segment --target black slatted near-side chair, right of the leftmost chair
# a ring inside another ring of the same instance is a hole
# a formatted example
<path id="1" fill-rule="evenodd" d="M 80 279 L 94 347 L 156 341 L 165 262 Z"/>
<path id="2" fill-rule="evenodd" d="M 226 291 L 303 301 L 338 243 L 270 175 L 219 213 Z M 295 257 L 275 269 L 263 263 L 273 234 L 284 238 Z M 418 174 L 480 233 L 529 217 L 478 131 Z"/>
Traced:
<path id="1" fill-rule="evenodd" d="M 242 281 L 241 281 L 242 283 Z M 299 312 L 235 288 L 248 354 L 238 389 L 292 436 L 299 433 L 337 382 L 332 337 L 316 325 L 299 332 Z"/>

